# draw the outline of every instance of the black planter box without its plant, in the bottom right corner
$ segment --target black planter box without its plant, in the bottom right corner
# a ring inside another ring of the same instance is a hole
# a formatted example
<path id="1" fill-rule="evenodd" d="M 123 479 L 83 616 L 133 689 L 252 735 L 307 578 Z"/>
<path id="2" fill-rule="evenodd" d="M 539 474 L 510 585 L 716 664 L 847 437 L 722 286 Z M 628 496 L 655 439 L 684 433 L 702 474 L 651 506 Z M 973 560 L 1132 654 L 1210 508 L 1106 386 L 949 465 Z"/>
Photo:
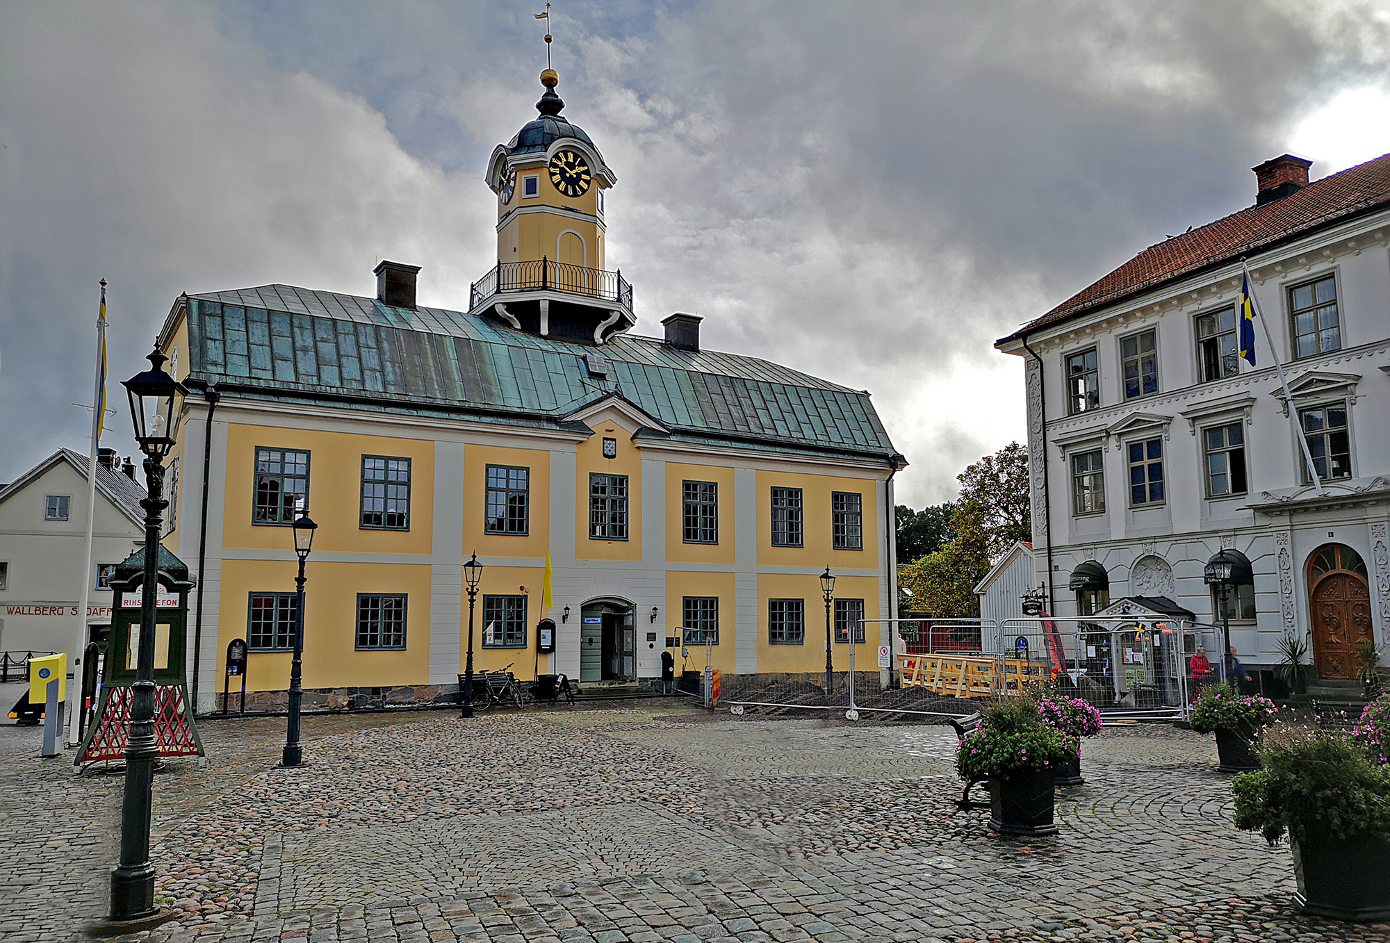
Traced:
<path id="1" fill-rule="evenodd" d="M 1305 914 L 1346 921 L 1390 918 L 1390 841 L 1359 835 L 1343 841 L 1293 841 L 1294 901 Z"/>

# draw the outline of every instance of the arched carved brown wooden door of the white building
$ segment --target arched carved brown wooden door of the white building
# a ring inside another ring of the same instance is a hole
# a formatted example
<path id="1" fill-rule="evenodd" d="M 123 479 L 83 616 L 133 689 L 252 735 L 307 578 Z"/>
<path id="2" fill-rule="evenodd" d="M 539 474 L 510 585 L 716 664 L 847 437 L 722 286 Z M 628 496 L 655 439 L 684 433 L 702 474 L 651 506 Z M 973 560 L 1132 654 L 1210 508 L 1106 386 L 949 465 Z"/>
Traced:
<path id="1" fill-rule="evenodd" d="M 1318 677 L 1355 676 L 1357 650 L 1372 640 L 1366 563 L 1344 544 L 1319 547 L 1308 563 L 1312 651 Z"/>

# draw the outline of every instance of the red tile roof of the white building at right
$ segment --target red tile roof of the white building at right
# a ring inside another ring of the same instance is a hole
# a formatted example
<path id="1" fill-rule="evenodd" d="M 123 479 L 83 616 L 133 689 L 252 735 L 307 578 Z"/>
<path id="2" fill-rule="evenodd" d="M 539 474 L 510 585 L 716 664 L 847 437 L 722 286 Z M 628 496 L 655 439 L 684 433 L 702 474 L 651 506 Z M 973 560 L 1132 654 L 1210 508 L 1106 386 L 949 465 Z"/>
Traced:
<path id="1" fill-rule="evenodd" d="M 1390 202 L 1390 154 L 1150 246 L 999 344 Z"/>

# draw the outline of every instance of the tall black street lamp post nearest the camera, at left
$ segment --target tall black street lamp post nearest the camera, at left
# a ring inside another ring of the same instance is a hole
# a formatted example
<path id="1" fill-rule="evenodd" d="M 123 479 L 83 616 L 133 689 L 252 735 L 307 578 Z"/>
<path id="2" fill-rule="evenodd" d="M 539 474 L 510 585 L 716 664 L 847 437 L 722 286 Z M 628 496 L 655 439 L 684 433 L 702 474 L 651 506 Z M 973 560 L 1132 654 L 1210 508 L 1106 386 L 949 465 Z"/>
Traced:
<path id="1" fill-rule="evenodd" d="M 150 862 L 154 759 L 154 605 L 158 599 L 158 552 L 164 499 L 164 456 L 174 446 L 174 412 L 188 389 L 164 371 L 158 348 L 147 355 L 150 369 L 121 385 L 131 401 L 135 441 L 145 452 L 145 574 L 140 584 L 140 634 L 131 686 L 131 732 L 125 741 L 125 794 L 121 800 L 121 861 L 111 872 L 111 921 L 157 917 L 154 865 Z"/>

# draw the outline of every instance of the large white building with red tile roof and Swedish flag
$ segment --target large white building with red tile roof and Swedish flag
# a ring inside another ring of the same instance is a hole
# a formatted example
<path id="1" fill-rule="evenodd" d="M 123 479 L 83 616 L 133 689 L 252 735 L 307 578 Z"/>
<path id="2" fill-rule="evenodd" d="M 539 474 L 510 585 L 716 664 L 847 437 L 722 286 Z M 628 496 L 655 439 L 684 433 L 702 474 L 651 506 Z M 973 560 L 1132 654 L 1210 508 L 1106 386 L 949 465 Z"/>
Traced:
<path id="1" fill-rule="evenodd" d="M 1293 636 L 1320 679 L 1350 679 L 1361 644 L 1384 647 L 1390 154 L 1315 182 L 1309 166 L 1255 167 L 1254 206 L 1150 246 L 997 342 L 1026 363 L 1033 581 L 1055 615 L 1165 597 L 1219 622 L 1202 570 L 1226 551 L 1248 666 L 1276 663 Z M 1241 259 L 1264 319 L 1254 366 Z"/>

